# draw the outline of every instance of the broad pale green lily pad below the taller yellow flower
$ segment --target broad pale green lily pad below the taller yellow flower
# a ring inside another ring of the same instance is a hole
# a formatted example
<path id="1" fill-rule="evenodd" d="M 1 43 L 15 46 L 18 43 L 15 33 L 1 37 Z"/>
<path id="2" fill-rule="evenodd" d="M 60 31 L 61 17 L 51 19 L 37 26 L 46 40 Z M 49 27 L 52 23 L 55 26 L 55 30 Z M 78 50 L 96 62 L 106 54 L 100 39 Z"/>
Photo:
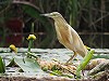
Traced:
<path id="1" fill-rule="evenodd" d="M 25 72 L 43 72 L 41 68 L 39 67 L 39 64 L 33 59 L 33 58 L 14 58 L 14 62 L 16 63 L 16 65 L 19 65 L 23 71 Z"/>

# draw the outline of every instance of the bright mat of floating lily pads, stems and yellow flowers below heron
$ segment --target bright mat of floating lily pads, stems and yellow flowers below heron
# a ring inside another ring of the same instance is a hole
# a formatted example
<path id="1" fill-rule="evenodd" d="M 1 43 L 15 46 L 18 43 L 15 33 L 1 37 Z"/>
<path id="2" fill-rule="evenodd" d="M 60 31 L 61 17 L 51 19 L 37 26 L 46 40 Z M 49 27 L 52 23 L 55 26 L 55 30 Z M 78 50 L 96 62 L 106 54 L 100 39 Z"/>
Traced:
<path id="1" fill-rule="evenodd" d="M 58 49 L 56 49 L 55 51 L 52 50 L 52 52 L 50 52 L 51 50 L 49 49 L 48 50 L 32 49 L 33 42 L 34 40 L 36 40 L 36 37 L 34 35 L 29 35 L 27 40 L 28 40 L 28 50 L 21 49 L 23 51 L 19 52 L 20 50 L 16 49 L 14 44 L 11 44 L 9 49 L 5 50 L 1 49 L 0 73 L 2 77 L 4 75 L 10 76 L 10 73 L 12 72 L 16 73 L 29 72 L 40 77 L 57 76 L 73 80 L 74 79 L 100 80 L 104 77 L 106 77 L 105 80 L 107 80 L 108 78 L 108 73 L 106 73 L 107 70 L 109 69 L 109 59 L 107 58 L 108 55 L 99 54 L 101 58 L 98 58 L 99 56 L 97 57 L 97 55 L 94 54 L 95 51 L 88 49 L 89 51 L 84 58 L 77 56 L 77 58 L 75 58 L 71 64 L 65 65 L 65 62 L 73 54 L 72 51 L 64 53 L 68 50 L 61 49 L 59 51 Z M 107 70 L 105 70 L 106 68 Z"/>

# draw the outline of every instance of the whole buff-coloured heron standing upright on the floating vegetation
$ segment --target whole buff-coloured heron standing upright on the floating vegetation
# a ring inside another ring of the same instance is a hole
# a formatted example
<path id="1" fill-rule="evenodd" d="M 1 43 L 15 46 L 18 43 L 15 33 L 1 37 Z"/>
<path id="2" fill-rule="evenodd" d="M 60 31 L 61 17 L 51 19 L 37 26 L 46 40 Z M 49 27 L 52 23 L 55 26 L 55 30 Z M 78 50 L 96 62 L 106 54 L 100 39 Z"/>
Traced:
<path id="1" fill-rule="evenodd" d="M 78 54 L 84 57 L 87 54 L 87 49 L 77 32 L 66 23 L 62 15 L 58 12 L 43 14 L 55 19 L 55 27 L 58 40 L 66 49 L 74 52 L 73 56 L 65 63 L 69 64 Z"/>

